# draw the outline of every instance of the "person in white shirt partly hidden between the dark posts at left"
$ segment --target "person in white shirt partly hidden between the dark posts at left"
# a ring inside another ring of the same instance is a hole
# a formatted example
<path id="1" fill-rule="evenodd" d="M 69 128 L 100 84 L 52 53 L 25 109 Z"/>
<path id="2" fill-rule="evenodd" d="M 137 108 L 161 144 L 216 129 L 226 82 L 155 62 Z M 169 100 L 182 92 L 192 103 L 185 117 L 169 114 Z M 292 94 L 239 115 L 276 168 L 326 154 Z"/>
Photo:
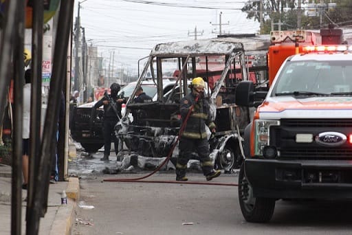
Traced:
<path id="1" fill-rule="evenodd" d="M 30 155 L 30 97 L 31 97 L 31 80 L 32 70 L 27 69 L 25 71 L 25 85 L 23 87 L 23 160 L 22 160 L 22 172 L 23 172 L 23 184 L 22 188 L 28 188 L 28 168 Z"/>

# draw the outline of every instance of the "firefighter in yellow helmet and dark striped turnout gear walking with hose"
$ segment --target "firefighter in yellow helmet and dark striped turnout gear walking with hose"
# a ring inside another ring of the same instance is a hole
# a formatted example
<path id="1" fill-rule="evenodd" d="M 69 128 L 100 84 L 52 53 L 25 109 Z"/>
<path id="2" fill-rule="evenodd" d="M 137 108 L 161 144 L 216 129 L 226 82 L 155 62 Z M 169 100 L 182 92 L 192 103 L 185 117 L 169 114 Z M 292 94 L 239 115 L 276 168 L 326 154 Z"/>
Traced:
<path id="1" fill-rule="evenodd" d="M 193 152 L 198 153 L 201 169 L 206 180 L 209 181 L 221 174 L 220 170 L 214 170 L 212 159 L 210 159 L 210 150 L 208 144 L 208 136 L 206 133 L 206 125 L 212 134 L 216 131 L 214 122 L 210 119 L 210 105 L 208 100 L 204 99 L 205 82 L 203 78 L 194 78 L 190 85 L 192 90 L 187 96 L 181 100 L 181 119 L 186 122 L 186 127 L 181 133 L 179 140 L 179 157 L 176 164 L 176 180 L 188 181 L 186 177 L 186 168 L 189 157 Z M 186 116 L 193 109 L 186 120 Z"/>

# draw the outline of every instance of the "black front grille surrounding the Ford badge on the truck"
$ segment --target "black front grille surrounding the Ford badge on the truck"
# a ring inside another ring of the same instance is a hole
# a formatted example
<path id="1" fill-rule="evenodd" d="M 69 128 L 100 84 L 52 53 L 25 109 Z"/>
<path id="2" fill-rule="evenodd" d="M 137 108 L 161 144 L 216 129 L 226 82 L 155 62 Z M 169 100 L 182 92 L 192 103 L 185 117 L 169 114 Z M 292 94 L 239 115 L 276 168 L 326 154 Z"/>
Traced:
<path id="1" fill-rule="evenodd" d="M 281 120 L 281 126 L 270 130 L 270 144 L 280 153 L 280 159 L 352 159 L 352 145 L 320 146 L 315 141 L 297 143 L 297 133 L 311 133 L 313 136 L 326 131 L 336 131 L 349 136 L 352 133 L 352 119 Z"/>

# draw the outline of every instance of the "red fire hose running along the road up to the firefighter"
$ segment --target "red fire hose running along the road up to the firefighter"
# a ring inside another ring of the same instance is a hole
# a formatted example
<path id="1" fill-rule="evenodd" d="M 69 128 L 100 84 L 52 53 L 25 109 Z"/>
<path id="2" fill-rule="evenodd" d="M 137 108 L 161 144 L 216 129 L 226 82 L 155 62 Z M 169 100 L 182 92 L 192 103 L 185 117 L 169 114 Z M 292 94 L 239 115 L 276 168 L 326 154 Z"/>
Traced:
<path id="1" fill-rule="evenodd" d="M 175 141 L 175 143 L 173 143 L 173 145 L 171 146 L 171 149 L 168 153 L 168 155 L 166 156 L 166 159 L 162 162 L 162 164 L 160 164 L 159 166 L 157 166 L 157 168 L 155 168 L 155 170 L 153 170 L 153 172 L 144 175 L 143 177 L 136 177 L 136 178 L 126 178 L 126 179 L 122 179 L 122 178 L 118 178 L 118 179 L 103 179 L 103 181 L 105 182 L 139 182 L 139 183 L 182 183 L 182 184 L 197 184 L 197 185 L 211 185 L 211 186 L 238 186 L 238 184 L 236 183 L 209 183 L 209 182 L 189 182 L 189 181 L 150 181 L 150 180 L 142 180 L 142 179 L 146 179 L 148 177 L 150 177 L 151 175 L 154 175 L 156 172 L 158 172 L 171 158 L 171 156 L 173 155 L 173 150 L 176 147 L 177 142 L 179 142 L 179 139 L 181 137 L 181 134 L 184 132 L 184 128 L 186 128 L 186 124 L 187 124 L 187 120 L 190 117 L 190 113 L 192 113 L 192 110 L 195 107 L 195 104 L 198 102 L 199 100 L 199 96 L 197 96 L 195 98 L 195 103 L 192 104 L 192 106 L 190 107 L 190 109 L 188 110 L 188 113 L 184 119 L 184 122 L 182 122 L 181 124 L 181 128 L 179 129 L 179 135 L 177 135 L 177 139 Z"/>

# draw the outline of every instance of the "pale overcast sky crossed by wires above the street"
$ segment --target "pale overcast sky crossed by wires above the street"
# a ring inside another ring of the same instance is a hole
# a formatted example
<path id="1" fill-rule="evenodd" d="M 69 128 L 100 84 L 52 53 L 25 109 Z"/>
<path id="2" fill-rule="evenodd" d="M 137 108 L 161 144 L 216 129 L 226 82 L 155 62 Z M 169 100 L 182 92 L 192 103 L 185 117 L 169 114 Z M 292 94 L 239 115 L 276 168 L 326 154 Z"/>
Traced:
<path id="1" fill-rule="evenodd" d="M 256 33 L 259 22 L 246 19 L 246 0 L 81 0 L 80 25 L 88 45 L 98 47 L 104 65 L 137 74 L 138 60 L 158 43 L 214 38 L 221 32 Z M 75 1 L 74 22 L 78 16 Z M 110 59 L 111 58 L 111 59 Z M 142 66 L 142 65 L 141 65 Z"/>

